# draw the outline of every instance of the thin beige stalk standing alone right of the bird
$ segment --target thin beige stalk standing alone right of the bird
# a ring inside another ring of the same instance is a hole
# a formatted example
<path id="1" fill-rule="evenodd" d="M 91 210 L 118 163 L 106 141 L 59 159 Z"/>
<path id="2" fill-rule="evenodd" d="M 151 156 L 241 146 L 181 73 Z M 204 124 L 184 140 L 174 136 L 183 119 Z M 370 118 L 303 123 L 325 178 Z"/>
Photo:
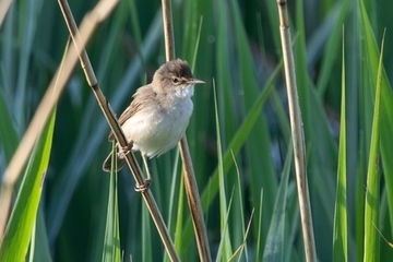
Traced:
<path id="1" fill-rule="evenodd" d="M 301 112 L 296 86 L 295 62 L 286 0 L 277 0 L 279 15 L 279 33 L 283 46 L 285 79 L 288 95 L 290 130 L 294 141 L 296 181 L 300 207 L 302 236 L 305 241 L 306 261 L 317 261 L 314 236 L 312 229 L 311 206 L 307 183 L 306 146 L 302 130 Z"/>

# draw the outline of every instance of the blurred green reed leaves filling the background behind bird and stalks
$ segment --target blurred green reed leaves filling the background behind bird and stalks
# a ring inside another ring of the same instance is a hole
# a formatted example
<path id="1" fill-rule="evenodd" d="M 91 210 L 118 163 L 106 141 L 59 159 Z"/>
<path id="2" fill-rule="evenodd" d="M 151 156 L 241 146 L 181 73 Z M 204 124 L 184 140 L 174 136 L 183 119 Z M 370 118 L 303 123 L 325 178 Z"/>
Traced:
<path id="1" fill-rule="evenodd" d="M 69 3 L 80 23 L 96 1 Z M 288 5 L 318 259 L 361 261 L 368 252 L 365 225 L 373 223 L 388 240 L 393 238 L 393 140 L 389 136 L 393 133 L 389 84 L 393 76 L 393 3 L 303 0 L 289 1 Z M 286 159 L 290 130 L 285 79 L 283 70 L 277 71 L 282 67 L 282 50 L 276 2 L 174 0 L 172 15 L 177 57 L 188 60 L 194 76 L 206 82 L 195 87 L 194 112 L 187 135 L 212 257 L 227 261 L 242 247 L 236 260 L 303 261 L 294 168 L 290 158 Z M 378 50 L 384 28 L 381 146 L 376 163 L 380 189 L 372 206 L 378 216 L 377 221 L 367 221 L 367 170 L 373 142 Z M 14 130 L 22 138 L 60 64 L 67 40 L 68 31 L 57 2 L 13 1 L 0 27 L 0 93 L 7 108 L 2 114 L 12 119 L 13 127 L 2 124 L 0 134 Z M 105 96 L 119 116 L 134 91 L 148 83 L 165 62 L 160 2 L 120 1 L 98 25 L 86 51 Z M 346 158 L 338 154 L 341 123 L 346 126 Z M 34 261 L 102 260 L 110 195 L 110 176 L 102 171 L 102 163 L 111 148 L 108 131 L 78 66 L 57 106 L 50 162 L 37 215 Z M 3 174 L 10 162 L 5 148 L 14 151 L 16 144 L 4 136 L 0 141 Z M 344 159 L 347 248 L 346 255 L 340 257 L 333 236 L 337 228 L 337 166 Z M 285 162 L 289 168 L 284 168 Z M 150 163 L 151 189 L 179 255 L 183 261 L 198 261 L 178 152 L 172 150 Z M 283 179 L 286 176 L 288 181 Z M 133 188 L 132 176 L 123 168 L 118 176 L 122 259 L 165 260 L 158 234 Z M 276 222 L 282 222 L 282 227 Z M 274 239 L 275 233 L 278 240 Z M 377 261 L 386 261 L 393 252 L 381 235 L 370 252 Z M 269 257 L 272 245 L 279 247 L 278 257 Z"/>

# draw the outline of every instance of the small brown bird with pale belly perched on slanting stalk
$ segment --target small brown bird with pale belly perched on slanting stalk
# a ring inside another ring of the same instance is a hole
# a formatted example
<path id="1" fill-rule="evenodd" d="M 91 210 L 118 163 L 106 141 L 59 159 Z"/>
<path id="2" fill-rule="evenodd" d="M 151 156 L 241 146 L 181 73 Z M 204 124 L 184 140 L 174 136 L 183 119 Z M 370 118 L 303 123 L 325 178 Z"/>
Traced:
<path id="1" fill-rule="evenodd" d="M 132 150 L 141 152 L 148 180 L 146 156 L 164 154 L 184 135 L 193 109 L 194 84 L 203 83 L 193 78 L 187 61 L 168 61 L 154 73 L 151 84 L 136 90 L 130 106 L 121 114 L 119 123 Z M 114 139 L 110 132 L 109 141 Z M 117 170 L 120 170 L 126 160 L 119 145 L 117 152 Z M 103 169 L 110 171 L 111 153 Z"/>

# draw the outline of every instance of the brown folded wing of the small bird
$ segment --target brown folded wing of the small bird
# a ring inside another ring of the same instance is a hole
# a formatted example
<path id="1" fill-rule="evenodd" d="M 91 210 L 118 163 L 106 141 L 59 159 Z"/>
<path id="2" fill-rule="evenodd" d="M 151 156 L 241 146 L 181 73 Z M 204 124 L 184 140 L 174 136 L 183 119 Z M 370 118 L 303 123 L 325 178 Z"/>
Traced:
<path id="1" fill-rule="evenodd" d="M 120 115 L 118 121 L 120 126 L 122 126 L 128 119 L 130 119 L 133 115 L 142 109 L 143 102 L 146 97 L 152 96 L 155 97 L 157 94 L 153 91 L 151 85 L 144 85 L 136 90 L 135 94 L 132 96 L 133 100 L 131 102 L 130 106 L 126 108 L 126 110 Z M 138 97 L 138 99 L 136 99 Z M 110 131 L 109 141 L 114 140 L 114 133 Z"/>

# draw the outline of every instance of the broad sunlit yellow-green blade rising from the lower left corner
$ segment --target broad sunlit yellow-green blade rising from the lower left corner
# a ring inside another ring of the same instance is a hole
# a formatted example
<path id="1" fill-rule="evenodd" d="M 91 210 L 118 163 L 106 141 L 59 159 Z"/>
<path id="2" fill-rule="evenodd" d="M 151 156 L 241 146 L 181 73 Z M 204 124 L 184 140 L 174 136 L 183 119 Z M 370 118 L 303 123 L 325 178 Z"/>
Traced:
<path id="1" fill-rule="evenodd" d="M 25 260 L 48 168 L 55 119 L 56 109 L 36 142 L 28 162 L 5 229 L 0 261 Z"/>

